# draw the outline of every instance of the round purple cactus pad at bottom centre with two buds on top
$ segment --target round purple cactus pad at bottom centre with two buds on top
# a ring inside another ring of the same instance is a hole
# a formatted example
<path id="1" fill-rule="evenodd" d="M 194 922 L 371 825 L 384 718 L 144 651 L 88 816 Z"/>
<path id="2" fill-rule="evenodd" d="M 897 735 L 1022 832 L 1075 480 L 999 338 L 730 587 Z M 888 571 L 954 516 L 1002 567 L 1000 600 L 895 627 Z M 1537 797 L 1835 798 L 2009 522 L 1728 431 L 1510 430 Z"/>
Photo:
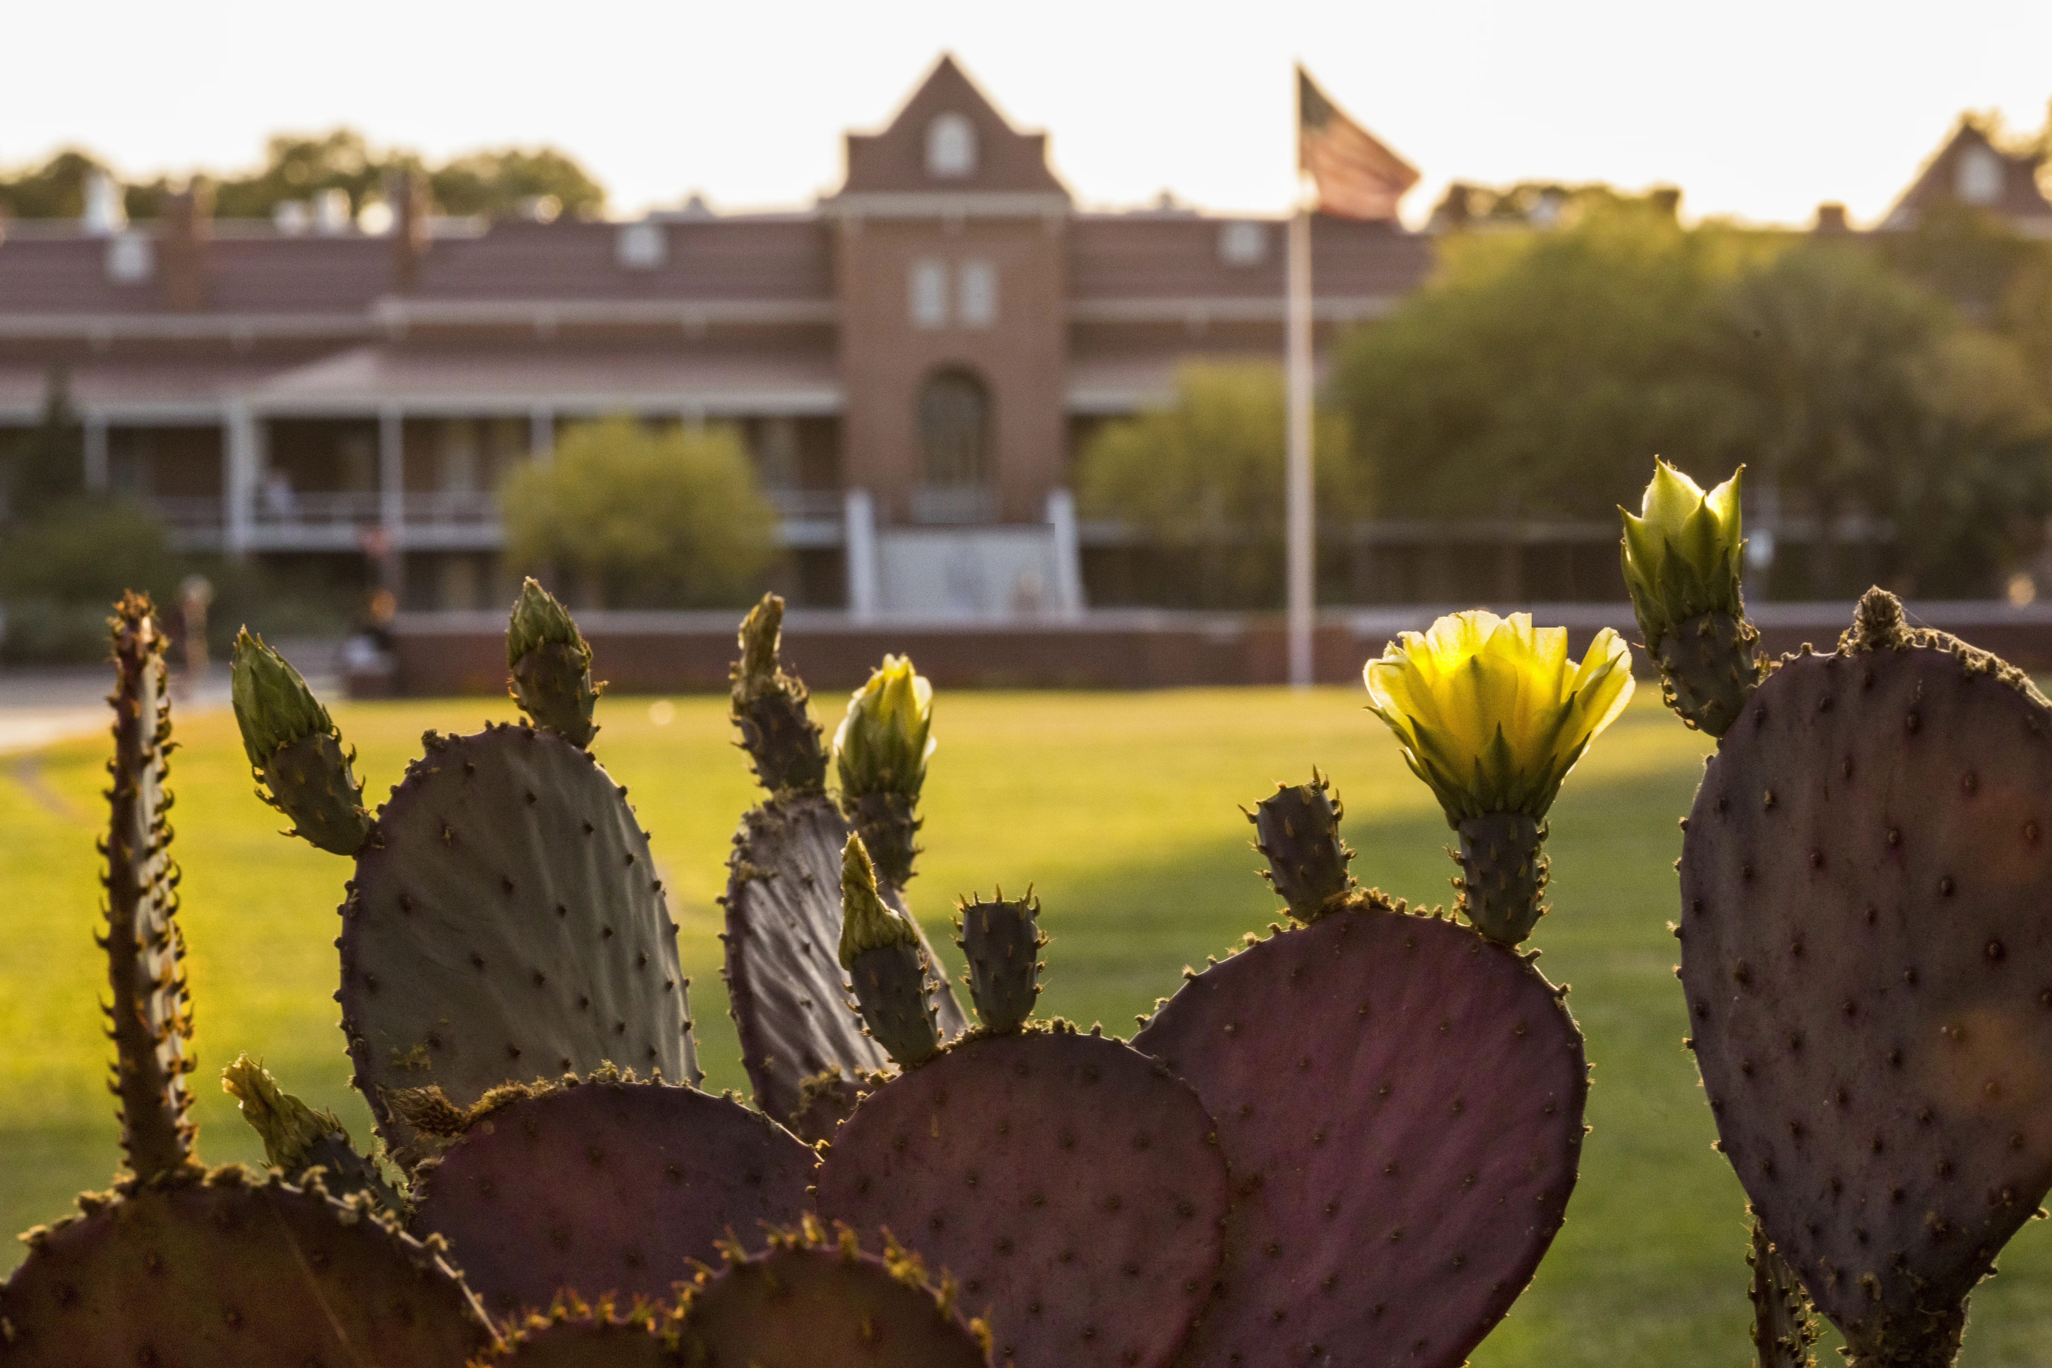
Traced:
<path id="1" fill-rule="evenodd" d="M 1225 1208 L 1196 1093 L 1059 1025 L 884 1083 L 819 1169 L 823 1216 L 911 1241 L 991 1309 L 997 1362 L 1168 1364 L 1211 1298 Z"/>

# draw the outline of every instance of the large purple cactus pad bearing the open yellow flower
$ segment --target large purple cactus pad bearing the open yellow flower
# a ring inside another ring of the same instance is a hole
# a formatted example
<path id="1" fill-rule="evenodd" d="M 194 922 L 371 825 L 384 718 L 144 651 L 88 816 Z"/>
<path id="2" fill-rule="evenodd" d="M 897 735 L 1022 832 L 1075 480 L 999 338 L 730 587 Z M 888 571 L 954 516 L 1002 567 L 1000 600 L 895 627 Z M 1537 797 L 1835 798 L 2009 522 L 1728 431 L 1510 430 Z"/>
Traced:
<path id="1" fill-rule="evenodd" d="M 1453 1368 L 1562 1224 L 1588 1067 L 1560 995 L 1371 898 L 1194 974 L 1133 1038 L 1196 1087 L 1233 1173 L 1190 1368 Z"/>

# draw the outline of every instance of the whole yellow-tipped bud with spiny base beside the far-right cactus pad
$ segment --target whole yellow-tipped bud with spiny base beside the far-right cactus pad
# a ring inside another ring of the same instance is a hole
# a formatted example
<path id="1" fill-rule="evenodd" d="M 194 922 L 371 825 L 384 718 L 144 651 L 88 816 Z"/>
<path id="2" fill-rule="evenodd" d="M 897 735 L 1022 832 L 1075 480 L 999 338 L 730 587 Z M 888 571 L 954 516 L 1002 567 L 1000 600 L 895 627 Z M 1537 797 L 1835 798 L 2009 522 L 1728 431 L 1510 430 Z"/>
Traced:
<path id="1" fill-rule="evenodd" d="M 1740 474 L 1705 494 L 1660 461 L 1640 517 L 1619 509 L 1625 585 L 1646 650 L 1660 662 L 1662 695 L 1711 736 L 1724 736 L 1763 677 L 1761 634 L 1746 621 L 1738 582 Z"/>

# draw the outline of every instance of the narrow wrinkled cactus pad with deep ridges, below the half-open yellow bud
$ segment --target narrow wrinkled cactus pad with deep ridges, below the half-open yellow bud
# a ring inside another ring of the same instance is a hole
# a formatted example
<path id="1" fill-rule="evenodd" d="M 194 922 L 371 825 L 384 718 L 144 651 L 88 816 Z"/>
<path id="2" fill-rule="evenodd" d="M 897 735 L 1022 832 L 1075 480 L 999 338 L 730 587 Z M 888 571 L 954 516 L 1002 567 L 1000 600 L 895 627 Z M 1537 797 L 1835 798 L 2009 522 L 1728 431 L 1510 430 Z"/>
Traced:
<path id="1" fill-rule="evenodd" d="M 845 845 L 847 820 L 831 798 L 780 794 L 741 818 L 726 861 L 724 972 L 741 1062 L 755 1083 L 755 1105 L 784 1124 L 796 1118 L 806 1079 L 827 1069 L 854 1077 L 891 1064 L 882 1046 L 862 1034 L 850 1009 L 854 987 L 839 964 Z M 925 931 L 919 943 L 932 958 Z M 942 1040 L 969 1028 L 946 984 L 934 995 L 934 1011 Z"/>

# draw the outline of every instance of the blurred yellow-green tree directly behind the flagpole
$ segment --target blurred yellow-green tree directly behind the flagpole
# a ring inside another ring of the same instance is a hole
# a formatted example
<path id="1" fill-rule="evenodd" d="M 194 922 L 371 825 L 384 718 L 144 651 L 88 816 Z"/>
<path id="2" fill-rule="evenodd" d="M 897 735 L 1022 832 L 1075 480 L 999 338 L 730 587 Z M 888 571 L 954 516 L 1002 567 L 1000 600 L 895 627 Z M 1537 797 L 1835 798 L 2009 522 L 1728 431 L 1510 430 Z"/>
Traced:
<path id="1" fill-rule="evenodd" d="M 1194 556 L 1200 607 L 1272 603 L 1282 582 L 1287 402 L 1272 363 L 1186 365 L 1172 406 L 1110 423 L 1083 449 L 1083 513 Z M 1360 511 L 1346 418 L 1319 414 L 1319 513 Z"/>

